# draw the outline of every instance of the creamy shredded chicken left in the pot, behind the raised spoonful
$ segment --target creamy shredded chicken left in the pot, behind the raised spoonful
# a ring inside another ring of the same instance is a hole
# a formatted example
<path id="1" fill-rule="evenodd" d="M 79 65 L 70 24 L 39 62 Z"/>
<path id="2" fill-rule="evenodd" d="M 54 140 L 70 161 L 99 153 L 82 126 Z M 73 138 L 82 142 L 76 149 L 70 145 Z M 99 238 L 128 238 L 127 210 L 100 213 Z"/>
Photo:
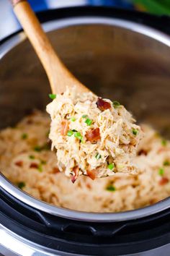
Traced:
<path id="1" fill-rule="evenodd" d="M 42 112 L 0 132 L 0 170 L 19 189 L 53 205 L 87 212 L 119 212 L 142 208 L 170 195 L 170 142 L 141 125 L 135 165 L 143 172 L 92 180 L 80 176 L 73 184 L 60 172 L 50 150 L 50 118 Z"/>

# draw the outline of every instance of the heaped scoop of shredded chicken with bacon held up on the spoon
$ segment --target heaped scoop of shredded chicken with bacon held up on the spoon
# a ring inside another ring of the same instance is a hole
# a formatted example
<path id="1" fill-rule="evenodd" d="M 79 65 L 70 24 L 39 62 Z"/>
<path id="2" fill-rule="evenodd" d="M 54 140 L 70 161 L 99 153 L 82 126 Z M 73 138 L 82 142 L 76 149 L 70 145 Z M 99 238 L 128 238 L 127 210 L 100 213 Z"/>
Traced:
<path id="1" fill-rule="evenodd" d="M 81 174 L 95 179 L 140 171 L 132 159 L 142 132 L 124 106 L 76 88 L 50 98 L 49 137 L 59 170 L 72 175 L 72 182 Z"/>

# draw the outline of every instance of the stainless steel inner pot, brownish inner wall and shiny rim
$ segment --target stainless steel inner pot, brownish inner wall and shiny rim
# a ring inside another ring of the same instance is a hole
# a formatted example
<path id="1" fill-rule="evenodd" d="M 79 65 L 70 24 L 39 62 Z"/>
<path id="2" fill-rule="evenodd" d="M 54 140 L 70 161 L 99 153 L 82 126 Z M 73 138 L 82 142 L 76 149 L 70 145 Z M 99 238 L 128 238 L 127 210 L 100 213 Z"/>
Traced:
<path id="1" fill-rule="evenodd" d="M 98 95 L 118 100 L 170 138 L 170 38 L 135 22 L 104 17 L 47 22 L 45 30 L 68 69 Z M 32 108 L 45 109 L 50 87 L 24 33 L 0 47 L 0 128 L 13 125 Z M 4 176 L 0 185 L 32 207 L 83 221 L 125 221 L 169 208 L 170 198 L 124 213 L 81 213 L 36 200 Z"/>

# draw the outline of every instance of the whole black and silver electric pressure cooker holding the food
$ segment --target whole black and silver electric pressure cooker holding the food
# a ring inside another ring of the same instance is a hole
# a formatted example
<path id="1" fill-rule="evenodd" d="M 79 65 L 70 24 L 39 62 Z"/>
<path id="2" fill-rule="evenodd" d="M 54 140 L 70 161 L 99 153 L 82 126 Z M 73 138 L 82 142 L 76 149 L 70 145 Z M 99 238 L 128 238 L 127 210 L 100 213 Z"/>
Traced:
<path id="1" fill-rule="evenodd" d="M 168 17 L 104 7 L 56 9 L 38 17 L 79 80 L 170 138 Z M 50 87 L 22 31 L 1 41 L 0 56 L 3 129 L 32 108 L 45 109 Z M 84 213 L 36 200 L 1 175 L 0 254 L 168 256 L 170 198 L 122 213 Z"/>

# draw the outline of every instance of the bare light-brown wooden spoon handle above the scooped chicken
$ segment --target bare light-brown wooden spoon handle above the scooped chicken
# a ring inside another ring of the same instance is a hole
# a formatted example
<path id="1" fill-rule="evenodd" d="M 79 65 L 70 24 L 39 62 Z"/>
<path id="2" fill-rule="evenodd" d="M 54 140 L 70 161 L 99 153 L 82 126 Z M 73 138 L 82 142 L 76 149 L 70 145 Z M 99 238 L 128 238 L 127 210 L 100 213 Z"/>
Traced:
<path id="1" fill-rule="evenodd" d="M 89 92 L 89 89 L 82 85 L 81 82 L 69 72 L 61 59 L 59 59 L 50 40 L 42 30 L 40 22 L 37 20 L 30 4 L 28 4 L 26 0 L 12 0 L 12 4 L 24 32 L 35 48 L 37 56 L 48 75 L 53 93 L 63 93 L 66 87 L 71 88 L 74 85 L 80 93 Z"/>

